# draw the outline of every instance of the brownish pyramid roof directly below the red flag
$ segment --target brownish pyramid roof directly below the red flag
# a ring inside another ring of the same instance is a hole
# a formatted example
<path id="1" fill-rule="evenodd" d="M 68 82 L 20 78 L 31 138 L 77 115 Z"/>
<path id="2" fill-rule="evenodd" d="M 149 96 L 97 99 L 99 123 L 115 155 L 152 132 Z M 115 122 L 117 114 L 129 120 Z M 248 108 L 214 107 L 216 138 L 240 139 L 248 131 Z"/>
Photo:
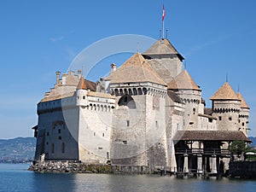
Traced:
<path id="1" fill-rule="evenodd" d="M 143 55 L 177 55 L 181 61 L 184 59 L 166 38 L 160 38 Z"/>

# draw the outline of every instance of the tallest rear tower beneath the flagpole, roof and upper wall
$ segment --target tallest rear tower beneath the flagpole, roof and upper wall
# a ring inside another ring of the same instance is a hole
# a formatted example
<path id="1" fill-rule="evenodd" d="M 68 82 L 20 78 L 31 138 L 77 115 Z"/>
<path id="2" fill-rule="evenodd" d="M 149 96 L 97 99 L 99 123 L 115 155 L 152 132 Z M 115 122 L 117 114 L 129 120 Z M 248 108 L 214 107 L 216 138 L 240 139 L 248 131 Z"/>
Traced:
<path id="1" fill-rule="evenodd" d="M 143 53 L 143 56 L 166 84 L 183 70 L 183 56 L 166 38 L 160 38 Z"/>

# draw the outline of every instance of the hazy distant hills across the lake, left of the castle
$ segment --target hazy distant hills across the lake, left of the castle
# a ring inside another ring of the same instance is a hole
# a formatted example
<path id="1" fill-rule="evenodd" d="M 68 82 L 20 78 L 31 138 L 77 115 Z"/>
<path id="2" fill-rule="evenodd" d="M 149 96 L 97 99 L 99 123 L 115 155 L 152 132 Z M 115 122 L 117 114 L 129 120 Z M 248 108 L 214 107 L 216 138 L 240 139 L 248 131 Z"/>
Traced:
<path id="1" fill-rule="evenodd" d="M 0 139 L 0 163 L 26 163 L 34 158 L 36 138 Z"/>

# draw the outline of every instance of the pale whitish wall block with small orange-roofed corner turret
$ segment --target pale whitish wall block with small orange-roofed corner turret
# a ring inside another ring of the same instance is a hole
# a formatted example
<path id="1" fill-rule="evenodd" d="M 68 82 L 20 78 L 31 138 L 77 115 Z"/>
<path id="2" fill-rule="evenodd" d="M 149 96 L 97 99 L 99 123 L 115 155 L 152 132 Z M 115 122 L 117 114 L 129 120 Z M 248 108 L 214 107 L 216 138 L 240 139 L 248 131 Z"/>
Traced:
<path id="1" fill-rule="evenodd" d="M 91 86 L 93 85 L 93 87 Z M 79 113 L 70 116 L 79 119 L 79 160 L 85 163 L 105 164 L 109 161 L 113 96 L 96 92 L 96 84 L 80 78 L 76 90 Z"/>

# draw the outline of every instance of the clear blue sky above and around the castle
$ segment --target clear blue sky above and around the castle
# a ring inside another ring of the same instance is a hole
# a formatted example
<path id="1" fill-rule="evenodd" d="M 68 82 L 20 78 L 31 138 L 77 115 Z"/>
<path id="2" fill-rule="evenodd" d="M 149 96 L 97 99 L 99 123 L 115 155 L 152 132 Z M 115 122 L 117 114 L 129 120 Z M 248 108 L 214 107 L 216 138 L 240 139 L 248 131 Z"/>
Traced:
<path id="1" fill-rule="evenodd" d="M 249 136 L 256 136 L 256 1 L 2 0 L 0 138 L 32 136 L 37 103 L 55 84 L 55 71 L 66 73 L 90 44 L 119 34 L 159 38 L 162 3 L 168 38 L 185 57 L 207 106 L 228 73 L 231 86 L 237 90 L 239 84 L 251 107 Z"/>

